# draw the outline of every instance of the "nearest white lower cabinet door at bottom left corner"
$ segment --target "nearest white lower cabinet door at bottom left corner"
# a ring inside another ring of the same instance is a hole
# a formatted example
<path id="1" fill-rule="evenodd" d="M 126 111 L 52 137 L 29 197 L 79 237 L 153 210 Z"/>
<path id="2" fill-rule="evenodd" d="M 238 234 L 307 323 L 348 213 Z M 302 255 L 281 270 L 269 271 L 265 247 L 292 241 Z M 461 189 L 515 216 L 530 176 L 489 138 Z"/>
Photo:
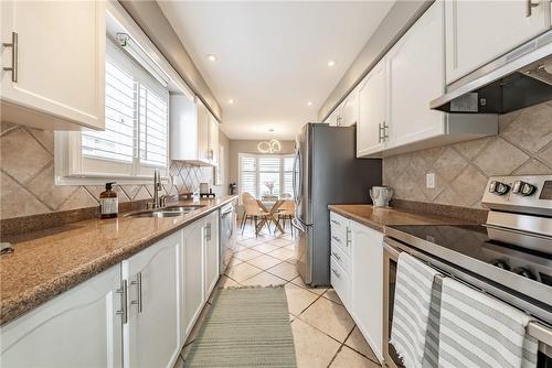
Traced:
<path id="1" fill-rule="evenodd" d="M 123 367 L 120 264 L 2 326 L 0 366 Z"/>

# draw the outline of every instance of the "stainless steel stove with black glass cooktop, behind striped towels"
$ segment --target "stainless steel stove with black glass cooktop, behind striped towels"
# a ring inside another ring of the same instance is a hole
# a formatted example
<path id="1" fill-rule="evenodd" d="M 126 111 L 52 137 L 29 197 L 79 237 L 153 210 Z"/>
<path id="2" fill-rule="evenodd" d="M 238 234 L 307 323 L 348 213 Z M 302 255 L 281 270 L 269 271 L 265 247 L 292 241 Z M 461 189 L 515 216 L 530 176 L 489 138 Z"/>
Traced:
<path id="1" fill-rule="evenodd" d="M 482 226 L 390 226 L 384 238 L 383 356 L 402 367 L 389 344 L 399 253 L 406 251 L 447 277 L 534 317 L 538 367 L 552 367 L 552 175 L 489 181 Z"/>

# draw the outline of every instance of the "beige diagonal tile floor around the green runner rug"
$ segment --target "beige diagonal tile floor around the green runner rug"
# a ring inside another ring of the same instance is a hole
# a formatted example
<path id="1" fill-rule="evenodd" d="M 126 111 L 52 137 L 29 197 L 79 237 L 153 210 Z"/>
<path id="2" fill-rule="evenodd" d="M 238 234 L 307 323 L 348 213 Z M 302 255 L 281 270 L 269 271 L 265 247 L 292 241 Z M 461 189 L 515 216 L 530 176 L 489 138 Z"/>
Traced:
<path id="1" fill-rule="evenodd" d="M 265 230 L 266 231 L 266 230 Z M 332 289 L 305 285 L 295 269 L 289 234 L 255 237 L 246 228 L 217 288 L 284 285 L 299 368 L 375 368 L 378 359 Z M 182 367 L 212 300 L 205 304 L 174 368 Z"/>

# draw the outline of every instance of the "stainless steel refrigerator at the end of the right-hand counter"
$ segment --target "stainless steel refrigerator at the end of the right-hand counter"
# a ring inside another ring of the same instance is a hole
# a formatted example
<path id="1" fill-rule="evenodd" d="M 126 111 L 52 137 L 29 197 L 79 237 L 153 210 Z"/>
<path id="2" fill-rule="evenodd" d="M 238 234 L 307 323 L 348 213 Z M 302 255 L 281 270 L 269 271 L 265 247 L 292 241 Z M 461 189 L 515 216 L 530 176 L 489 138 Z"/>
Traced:
<path id="1" fill-rule="evenodd" d="M 357 159 L 357 128 L 307 123 L 296 139 L 294 227 L 297 270 L 306 284 L 330 284 L 330 204 L 372 203 L 380 159 Z"/>

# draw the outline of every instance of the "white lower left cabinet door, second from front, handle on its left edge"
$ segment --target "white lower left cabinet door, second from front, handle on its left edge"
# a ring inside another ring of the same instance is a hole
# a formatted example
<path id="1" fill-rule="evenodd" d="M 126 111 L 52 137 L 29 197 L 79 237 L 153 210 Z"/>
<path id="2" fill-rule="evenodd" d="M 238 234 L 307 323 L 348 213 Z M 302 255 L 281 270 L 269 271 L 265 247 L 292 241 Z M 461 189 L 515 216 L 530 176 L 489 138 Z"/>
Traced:
<path id="1" fill-rule="evenodd" d="M 172 368 L 180 353 L 182 231 L 123 261 L 128 284 L 125 367 Z"/>

